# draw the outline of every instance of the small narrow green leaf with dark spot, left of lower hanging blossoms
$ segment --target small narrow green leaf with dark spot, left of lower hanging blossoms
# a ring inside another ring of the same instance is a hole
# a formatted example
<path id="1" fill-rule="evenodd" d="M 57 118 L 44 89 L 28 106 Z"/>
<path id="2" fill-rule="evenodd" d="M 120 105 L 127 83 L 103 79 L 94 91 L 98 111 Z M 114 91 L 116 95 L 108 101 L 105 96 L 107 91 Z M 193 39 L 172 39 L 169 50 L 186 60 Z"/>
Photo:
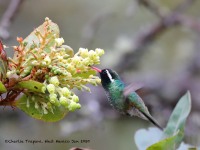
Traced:
<path id="1" fill-rule="evenodd" d="M 42 93 L 42 87 L 44 85 L 40 82 L 34 81 L 34 80 L 27 80 L 27 81 L 21 81 L 18 82 L 15 88 L 23 88 L 28 89 L 31 92 L 40 92 Z"/>

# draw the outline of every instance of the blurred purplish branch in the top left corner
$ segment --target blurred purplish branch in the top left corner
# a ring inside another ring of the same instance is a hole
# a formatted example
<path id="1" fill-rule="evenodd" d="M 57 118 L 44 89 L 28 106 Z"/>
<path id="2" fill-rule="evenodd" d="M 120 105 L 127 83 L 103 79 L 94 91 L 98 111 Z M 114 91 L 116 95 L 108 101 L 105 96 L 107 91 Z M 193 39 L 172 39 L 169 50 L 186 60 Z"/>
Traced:
<path id="1" fill-rule="evenodd" d="M 17 14 L 20 5 L 22 4 L 23 0 L 12 0 L 2 16 L 0 21 L 0 38 L 8 39 L 10 37 L 10 33 L 8 28 L 10 27 L 12 19 Z"/>

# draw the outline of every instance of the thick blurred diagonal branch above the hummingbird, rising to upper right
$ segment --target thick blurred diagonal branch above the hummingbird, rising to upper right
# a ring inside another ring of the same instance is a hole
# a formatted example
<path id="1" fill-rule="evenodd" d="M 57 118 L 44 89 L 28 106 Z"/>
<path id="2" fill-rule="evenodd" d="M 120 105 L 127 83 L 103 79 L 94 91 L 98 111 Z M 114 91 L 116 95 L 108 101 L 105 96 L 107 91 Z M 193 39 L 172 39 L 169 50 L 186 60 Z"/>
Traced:
<path id="1" fill-rule="evenodd" d="M 121 60 L 115 66 L 115 69 L 118 72 L 123 72 L 126 69 L 137 68 L 138 61 L 141 56 L 143 56 L 144 52 L 147 51 L 146 47 L 153 43 L 157 36 L 163 34 L 169 27 L 181 24 L 183 22 L 183 17 L 181 19 L 179 14 L 182 11 L 185 11 L 194 1 L 195 0 L 185 0 L 183 3 L 175 7 L 172 13 L 161 18 L 158 23 L 140 32 L 139 36 L 132 42 L 132 50 L 122 56 Z M 148 5 L 145 4 L 145 6 L 151 6 L 148 8 L 153 10 L 152 3 L 148 3 Z M 155 11 L 154 13 L 159 14 L 160 11 Z"/>

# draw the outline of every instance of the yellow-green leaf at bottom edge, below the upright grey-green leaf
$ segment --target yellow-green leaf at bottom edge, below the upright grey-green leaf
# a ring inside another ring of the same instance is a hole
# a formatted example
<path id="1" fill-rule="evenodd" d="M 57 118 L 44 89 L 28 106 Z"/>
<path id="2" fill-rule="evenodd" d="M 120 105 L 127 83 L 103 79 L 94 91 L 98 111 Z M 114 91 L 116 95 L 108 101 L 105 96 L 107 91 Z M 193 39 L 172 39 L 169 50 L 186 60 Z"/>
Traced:
<path id="1" fill-rule="evenodd" d="M 173 150 L 176 149 L 176 139 L 179 133 L 177 132 L 174 136 L 168 137 L 164 140 L 159 141 L 147 148 L 147 150 Z"/>

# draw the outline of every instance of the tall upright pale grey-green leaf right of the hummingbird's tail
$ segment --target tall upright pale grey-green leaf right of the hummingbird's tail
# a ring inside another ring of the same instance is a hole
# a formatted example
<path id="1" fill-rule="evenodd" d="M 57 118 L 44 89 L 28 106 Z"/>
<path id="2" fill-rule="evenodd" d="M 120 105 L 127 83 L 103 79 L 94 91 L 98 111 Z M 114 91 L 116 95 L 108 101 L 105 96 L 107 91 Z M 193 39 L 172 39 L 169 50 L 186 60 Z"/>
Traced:
<path id="1" fill-rule="evenodd" d="M 178 131 L 176 138 L 177 146 L 181 143 L 184 137 L 184 128 L 186 119 L 191 110 L 191 96 L 190 92 L 187 92 L 176 104 L 174 111 L 172 112 L 170 119 L 167 123 L 167 127 L 164 130 L 164 136 L 173 136 Z"/>

